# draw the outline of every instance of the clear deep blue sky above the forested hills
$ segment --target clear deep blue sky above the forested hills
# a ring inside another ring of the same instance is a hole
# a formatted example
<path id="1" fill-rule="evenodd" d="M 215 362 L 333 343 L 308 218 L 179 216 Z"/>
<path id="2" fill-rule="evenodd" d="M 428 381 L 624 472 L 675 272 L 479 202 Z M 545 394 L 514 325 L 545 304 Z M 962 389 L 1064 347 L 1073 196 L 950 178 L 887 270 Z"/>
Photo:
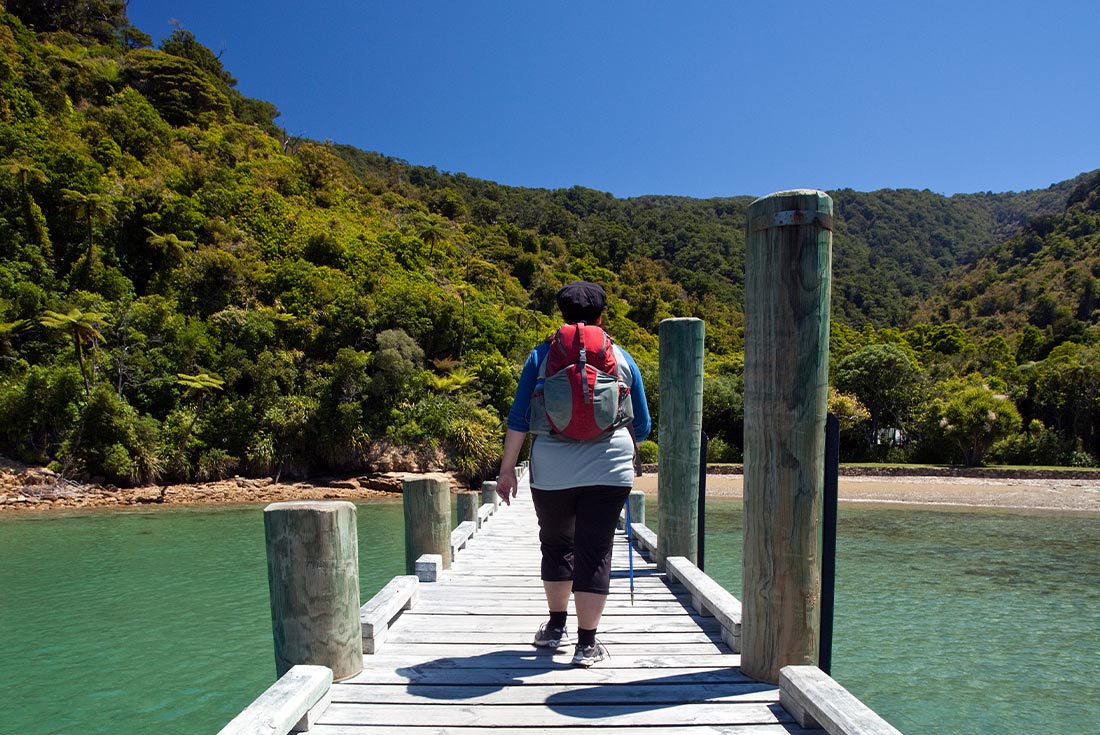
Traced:
<path id="1" fill-rule="evenodd" d="M 1045 188 L 1100 168 L 1097 0 L 131 0 L 292 134 L 616 196 Z"/>

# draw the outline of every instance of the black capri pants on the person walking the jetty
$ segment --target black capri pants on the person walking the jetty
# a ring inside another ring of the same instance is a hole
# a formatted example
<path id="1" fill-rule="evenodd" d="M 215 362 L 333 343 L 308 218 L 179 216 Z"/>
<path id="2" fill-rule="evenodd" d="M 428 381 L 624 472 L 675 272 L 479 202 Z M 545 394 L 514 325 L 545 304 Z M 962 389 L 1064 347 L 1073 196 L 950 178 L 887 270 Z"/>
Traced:
<path id="1" fill-rule="evenodd" d="M 630 487 L 587 485 L 535 490 L 539 518 L 542 581 L 573 581 L 573 592 L 610 591 L 612 546 L 619 512 Z"/>

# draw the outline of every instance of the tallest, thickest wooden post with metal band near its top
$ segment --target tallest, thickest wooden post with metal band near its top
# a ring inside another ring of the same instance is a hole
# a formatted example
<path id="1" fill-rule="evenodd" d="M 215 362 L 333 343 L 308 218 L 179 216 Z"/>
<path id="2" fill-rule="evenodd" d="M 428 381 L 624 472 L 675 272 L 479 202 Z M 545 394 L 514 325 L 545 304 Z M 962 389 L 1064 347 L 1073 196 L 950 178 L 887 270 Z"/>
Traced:
<path id="1" fill-rule="evenodd" d="M 833 200 L 772 194 L 747 229 L 741 670 L 777 682 L 817 662 Z"/>

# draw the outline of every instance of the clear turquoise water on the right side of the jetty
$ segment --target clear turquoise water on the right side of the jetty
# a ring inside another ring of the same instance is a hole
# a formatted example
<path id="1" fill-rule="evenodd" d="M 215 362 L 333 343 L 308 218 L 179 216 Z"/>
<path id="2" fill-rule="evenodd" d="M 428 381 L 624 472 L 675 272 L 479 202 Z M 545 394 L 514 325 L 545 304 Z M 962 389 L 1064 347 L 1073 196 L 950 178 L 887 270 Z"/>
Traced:
<path id="1" fill-rule="evenodd" d="M 1085 733 L 1100 702 L 1100 517 L 842 505 L 833 677 L 906 735 Z M 704 566 L 739 595 L 740 507 Z M 722 530 L 717 530 L 722 529 Z"/>

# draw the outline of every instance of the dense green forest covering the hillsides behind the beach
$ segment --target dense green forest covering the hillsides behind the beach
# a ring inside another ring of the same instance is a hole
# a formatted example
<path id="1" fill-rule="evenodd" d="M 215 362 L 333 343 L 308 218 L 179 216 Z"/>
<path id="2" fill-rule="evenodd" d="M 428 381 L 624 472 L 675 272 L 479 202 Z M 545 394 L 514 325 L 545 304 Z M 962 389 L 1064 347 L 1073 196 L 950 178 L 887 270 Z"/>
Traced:
<path id="1" fill-rule="evenodd" d="M 507 187 L 277 117 L 123 0 L 7 2 L 0 452 L 117 484 L 487 476 L 518 365 L 580 277 L 650 383 L 660 321 L 706 321 L 711 459 L 740 458 L 751 197 Z M 831 195 L 844 457 L 1094 464 L 1100 175 Z"/>

